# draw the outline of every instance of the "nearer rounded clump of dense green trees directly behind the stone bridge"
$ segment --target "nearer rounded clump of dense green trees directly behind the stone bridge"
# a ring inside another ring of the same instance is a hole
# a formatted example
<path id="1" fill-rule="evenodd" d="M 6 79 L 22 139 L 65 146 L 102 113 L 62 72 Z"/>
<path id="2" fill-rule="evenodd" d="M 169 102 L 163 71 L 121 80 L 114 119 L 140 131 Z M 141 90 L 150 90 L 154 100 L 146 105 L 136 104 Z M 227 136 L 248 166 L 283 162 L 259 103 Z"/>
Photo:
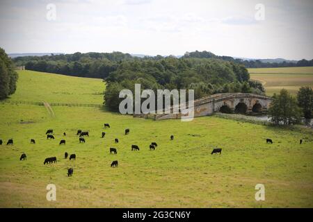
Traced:
<path id="1" fill-rule="evenodd" d="M 243 65 L 215 58 L 175 58 L 125 60 L 106 78 L 106 107 L 118 111 L 122 89 L 194 89 L 195 99 L 221 92 L 264 94 L 261 83 L 251 81 Z"/>

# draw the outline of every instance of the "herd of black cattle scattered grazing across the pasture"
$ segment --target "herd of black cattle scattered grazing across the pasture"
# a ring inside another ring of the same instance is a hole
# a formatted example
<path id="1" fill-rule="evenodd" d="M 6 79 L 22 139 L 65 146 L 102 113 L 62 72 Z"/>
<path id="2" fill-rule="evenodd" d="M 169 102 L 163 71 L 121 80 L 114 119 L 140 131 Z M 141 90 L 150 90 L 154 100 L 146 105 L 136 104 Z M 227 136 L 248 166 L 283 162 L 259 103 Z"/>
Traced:
<path id="1" fill-rule="evenodd" d="M 109 123 L 104 123 L 104 128 L 110 128 Z M 46 132 L 47 139 L 55 139 L 54 135 L 52 135 L 53 133 L 54 133 L 54 130 L 52 130 L 52 129 L 47 130 L 47 132 Z M 128 135 L 128 134 L 129 134 L 129 128 L 125 129 L 125 135 Z M 66 136 L 66 133 L 63 133 L 63 135 Z M 79 143 L 81 143 L 81 142 L 85 143 L 86 142 L 85 139 L 83 138 L 83 136 L 89 137 L 89 133 L 87 131 L 82 131 L 82 130 L 77 130 L 77 135 L 79 135 Z M 105 135 L 106 135 L 106 133 L 102 132 L 102 138 L 104 138 Z M 174 139 L 174 135 L 170 135 L 170 140 L 173 140 L 173 139 Z M 115 138 L 114 142 L 115 142 L 115 144 L 117 144 L 119 142 L 118 138 Z M 300 144 L 302 144 L 302 142 L 303 142 L 303 140 L 300 139 Z M 2 145 L 2 144 L 3 144 L 3 141 L 2 141 L 2 139 L 0 139 L 0 145 Z M 35 139 L 31 139 L 31 144 L 35 144 Z M 272 139 L 266 139 L 266 144 L 273 144 L 273 140 Z M 8 139 L 8 142 L 6 143 L 6 145 L 13 146 L 13 139 Z M 59 145 L 65 145 L 65 139 L 61 139 Z M 155 150 L 157 148 L 157 146 L 158 145 L 156 142 L 152 142 L 149 146 L 150 151 Z M 139 146 L 138 145 L 131 145 L 131 151 L 139 151 Z M 118 154 L 118 151 L 116 148 L 111 147 L 110 148 L 110 154 L 111 153 Z M 222 148 L 214 148 L 213 151 L 211 152 L 211 154 L 216 154 L 216 153 L 222 154 Z M 67 157 L 68 157 L 67 152 L 65 152 L 64 157 L 65 157 L 65 159 L 67 159 Z M 76 154 L 71 154 L 69 159 L 70 160 L 76 160 Z M 27 160 L 26 154 L 22 153 L 21 157 L 19 157 L 19 160 Z M 52 164 L 52 163 L 56 163 L 56 157 L 47 157 L 45 159 L 44 164 Z M 118 160 L 114 160 L 111 163 L 111 167 L 118 167 Z M 73 171 L 74 170 L 72 168 L 67 169 L 67 176 L 72 176 Z"/>

